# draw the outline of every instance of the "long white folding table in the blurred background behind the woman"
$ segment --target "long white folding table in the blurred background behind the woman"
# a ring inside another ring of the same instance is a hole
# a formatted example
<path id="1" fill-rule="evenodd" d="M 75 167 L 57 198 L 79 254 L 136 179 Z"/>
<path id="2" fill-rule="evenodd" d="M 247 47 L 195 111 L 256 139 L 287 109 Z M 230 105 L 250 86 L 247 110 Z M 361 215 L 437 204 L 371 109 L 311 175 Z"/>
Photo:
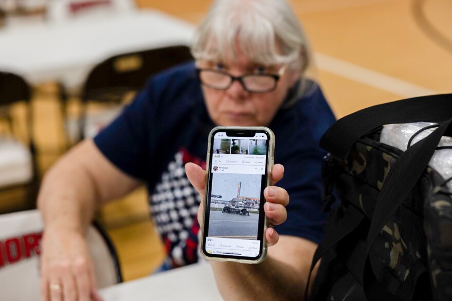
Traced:
<path id="1" fill-rule="evenodd" d="M 77 89 L 91 68 L 110 56 L 189 45 L 193 32 L 192 24 L 157 10 L 5 27 L 0 29 L 0 71 L 18 73 L 32 85 L 58 81 Z"/>

